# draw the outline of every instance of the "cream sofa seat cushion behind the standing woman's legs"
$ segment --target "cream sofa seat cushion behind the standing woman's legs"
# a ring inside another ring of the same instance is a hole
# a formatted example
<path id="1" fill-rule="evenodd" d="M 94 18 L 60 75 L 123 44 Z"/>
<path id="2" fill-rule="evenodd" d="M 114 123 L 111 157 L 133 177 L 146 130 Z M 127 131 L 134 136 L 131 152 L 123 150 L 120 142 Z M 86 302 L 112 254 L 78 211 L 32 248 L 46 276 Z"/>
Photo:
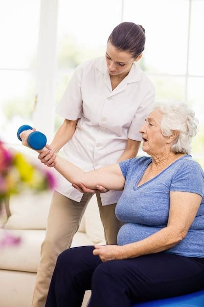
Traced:
<path id="1" fill-rule="evenodd" d="M 9 233 L 20 236 L 21 243 L 1 249 L 0 269 L 37 272 L 45 230 L 9 230 Z M 71 247 L 83 245 L 93 245 L 93 243 L 84 232 L 78 231 L 74 235 Z"/>

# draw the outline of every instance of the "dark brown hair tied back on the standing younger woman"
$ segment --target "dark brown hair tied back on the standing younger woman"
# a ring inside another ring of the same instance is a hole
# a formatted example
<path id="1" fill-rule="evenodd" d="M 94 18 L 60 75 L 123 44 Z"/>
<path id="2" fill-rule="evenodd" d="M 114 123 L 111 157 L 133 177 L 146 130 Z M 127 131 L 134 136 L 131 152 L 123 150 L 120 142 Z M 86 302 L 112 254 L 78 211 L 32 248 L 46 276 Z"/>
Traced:
<path id="1" fill-rule="evenodd" d="M 145 29 L 134 23 L 121 23 L 113 29 L 108 42 L 118 50 L 129 51 L 136 58 L 144 50 Z"/>

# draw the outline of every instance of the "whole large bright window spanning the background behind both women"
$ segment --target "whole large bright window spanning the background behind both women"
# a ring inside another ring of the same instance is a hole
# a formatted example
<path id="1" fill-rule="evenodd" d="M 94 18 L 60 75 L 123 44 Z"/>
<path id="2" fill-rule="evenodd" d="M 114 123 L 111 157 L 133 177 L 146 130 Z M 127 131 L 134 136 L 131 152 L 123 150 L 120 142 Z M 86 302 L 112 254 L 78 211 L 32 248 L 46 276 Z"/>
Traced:
<path id="1" fill-rule="evenodd" d="M 146 30 L 139 63 L 156 87 L 156 100 L 182 100 L 195 110 L 200 131 L 193 141 L 193 157 L 204 166 L 203 16 L 204 0 L 4 1 L 0 138 L 14 143 L 17 127 L 32 125 L 36 93 L 40 128 L 52 131 L 55 125 L 56 131 L 63 119 L 55 116 L 54 124 L 55 106 L 75 67 L 104 54 L 113 27 L 132 21 Z M 40 69 L 36 69 L 37 55 Z M 38 91 L 36 80 L 41 85 Z"/>

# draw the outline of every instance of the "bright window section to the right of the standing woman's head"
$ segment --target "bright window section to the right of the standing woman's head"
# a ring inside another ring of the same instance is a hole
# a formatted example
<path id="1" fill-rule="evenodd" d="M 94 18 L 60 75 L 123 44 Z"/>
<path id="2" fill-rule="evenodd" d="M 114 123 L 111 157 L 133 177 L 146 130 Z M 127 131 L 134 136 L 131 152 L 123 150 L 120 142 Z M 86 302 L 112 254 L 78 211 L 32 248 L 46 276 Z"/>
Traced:
<path id="1" fill-rule="evenodd" d="M 192 155 L 204 167 L 204 0 L 124 0 L 123 21 L 146 29 L 143 69 L 156 100 L 188 103 L 199 120 Z"/>

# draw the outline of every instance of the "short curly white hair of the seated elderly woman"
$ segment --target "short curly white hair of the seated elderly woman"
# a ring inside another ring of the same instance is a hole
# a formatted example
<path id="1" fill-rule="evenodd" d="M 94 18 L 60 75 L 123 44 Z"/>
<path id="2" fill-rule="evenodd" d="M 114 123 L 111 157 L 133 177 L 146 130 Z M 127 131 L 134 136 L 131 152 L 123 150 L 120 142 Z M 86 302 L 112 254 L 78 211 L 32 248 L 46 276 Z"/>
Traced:
<path id="1" fill-rule="evenodd" d="M 159 110 L 163 114 L 160 128 L 164 136 L 171 136 L 174 130 L 179 132 L 171 150 L 174 153 L 191 153 L 191 141 L 198 130 L 194 111 L 186 103 L 179 101 L 157 102 L 153 110 Z"/>

